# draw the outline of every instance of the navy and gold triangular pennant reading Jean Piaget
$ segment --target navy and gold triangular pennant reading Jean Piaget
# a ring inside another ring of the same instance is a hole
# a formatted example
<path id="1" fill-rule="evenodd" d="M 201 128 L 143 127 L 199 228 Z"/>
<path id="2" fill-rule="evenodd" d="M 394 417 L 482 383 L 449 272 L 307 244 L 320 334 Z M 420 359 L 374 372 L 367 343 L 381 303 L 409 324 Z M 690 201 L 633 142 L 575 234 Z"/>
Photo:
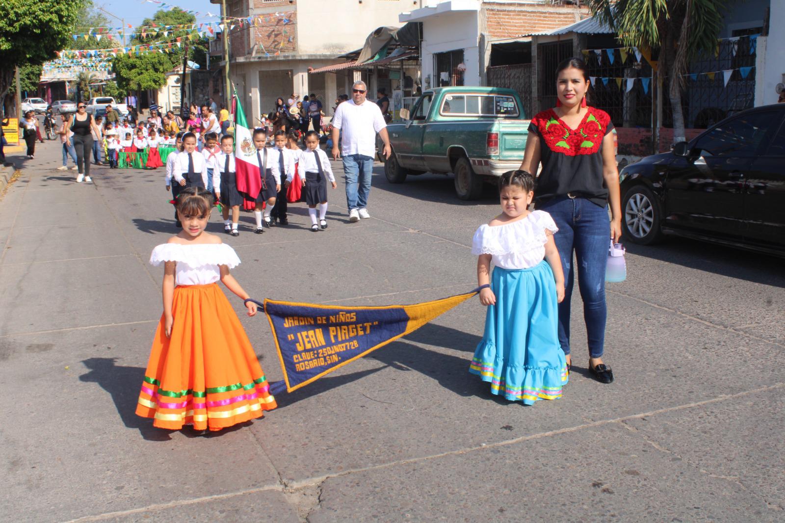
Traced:
<path id="1" fill-rule="evenodd" d="M 265 299 L 287 391 L 343 367 L 427 324 L 479 289 L 414 305 L 331 307 Z"/>

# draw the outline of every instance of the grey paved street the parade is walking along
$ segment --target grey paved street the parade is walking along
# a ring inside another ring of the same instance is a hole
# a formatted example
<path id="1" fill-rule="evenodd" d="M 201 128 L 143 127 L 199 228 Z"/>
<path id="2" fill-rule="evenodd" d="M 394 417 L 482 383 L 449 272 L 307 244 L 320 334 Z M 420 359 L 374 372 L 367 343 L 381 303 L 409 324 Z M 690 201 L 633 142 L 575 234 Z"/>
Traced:
<path id="1" fill-rule="evenodd" d="M 19 157 L 17 157 L 18 159 Z M 469 375 L 473 299 L 310 386 L 265 419 L 202 435 L 133 410 L 173 234 L 163 170 L 93 169 L 74 183 L 59 142 L 0 199 L 0 521 L 783 521 L 783 262 L 703 243 L 630 246 L 608 284 L 605 360 L 586 373 L 575 296 L 564 397 L 533 407 Z M 334 163 L 339 174 L 341 167 Z M 379 166 L 349 224 L 224 236 L 257 299 L 422 302 L 476 285 L 474 230 L 498 213 L 451 178 L 390 185 Z M 221 233 L 214 216 L 208 230 Z M 577 292 L 576 292 L 577 294 Z M 233 299 L 235 309 L 243 309 Z M 243 319 L 268 379 L 268 322 Z"/>

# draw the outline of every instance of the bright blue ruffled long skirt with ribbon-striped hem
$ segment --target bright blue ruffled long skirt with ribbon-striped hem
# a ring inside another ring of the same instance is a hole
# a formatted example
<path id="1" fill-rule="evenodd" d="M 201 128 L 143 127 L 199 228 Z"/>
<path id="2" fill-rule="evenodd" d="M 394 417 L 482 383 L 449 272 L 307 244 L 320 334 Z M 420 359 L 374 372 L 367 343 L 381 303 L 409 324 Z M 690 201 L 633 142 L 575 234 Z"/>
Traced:
<path id="1" fill-rule="evenodd" d="M 495 267 L 485 334 L 469 372 L 491 382 L 491 393 L 534 404 L 555 400 L 567 383 L 567 360 L 559 345 L 553 271 L 545 260 L 529 269 Z"/>

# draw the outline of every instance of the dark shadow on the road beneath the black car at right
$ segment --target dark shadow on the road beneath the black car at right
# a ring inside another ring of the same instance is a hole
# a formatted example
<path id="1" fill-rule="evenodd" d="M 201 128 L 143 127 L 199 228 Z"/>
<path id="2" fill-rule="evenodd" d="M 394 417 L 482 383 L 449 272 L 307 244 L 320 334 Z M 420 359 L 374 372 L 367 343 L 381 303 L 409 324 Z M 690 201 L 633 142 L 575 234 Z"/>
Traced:
<path id="1" fill-rule="evenodd" d="M 658 245 L 636 245 L 622 239 L 627 252 L 753 283 L 785 287 L 783 259 L 714 243 L 666 236 Z"/>

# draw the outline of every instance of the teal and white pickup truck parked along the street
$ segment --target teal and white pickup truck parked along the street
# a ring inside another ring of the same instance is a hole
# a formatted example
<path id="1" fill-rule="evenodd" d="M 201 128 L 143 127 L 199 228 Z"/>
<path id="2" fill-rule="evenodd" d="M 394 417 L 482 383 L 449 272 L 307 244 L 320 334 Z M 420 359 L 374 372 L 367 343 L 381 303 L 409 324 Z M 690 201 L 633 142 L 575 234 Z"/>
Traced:
<path id="1" fill-rule="evenodd" d="M 422 93 L 411 112 L 400 115 L 404 123 L 387 126 L 390 183 L 410 174 L 455 173 L 458 198 L 478 199 L 484 181 L 517 169 L 524 159 L 529 120 L 514 90 L 440 87 Z"/>

